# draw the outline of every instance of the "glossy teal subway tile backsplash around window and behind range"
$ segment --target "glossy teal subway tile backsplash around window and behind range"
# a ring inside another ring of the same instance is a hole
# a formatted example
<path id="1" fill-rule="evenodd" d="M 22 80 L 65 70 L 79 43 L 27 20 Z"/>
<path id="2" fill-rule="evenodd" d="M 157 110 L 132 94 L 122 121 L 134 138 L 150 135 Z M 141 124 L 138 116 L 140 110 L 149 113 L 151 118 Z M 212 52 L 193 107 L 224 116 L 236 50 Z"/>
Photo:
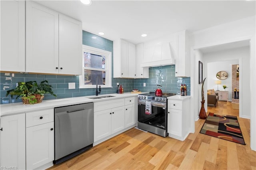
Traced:
<path id="1" fill-rule="evenodd" d="M 97 40 L 92 39 L 95 36 Z M 112 52 L 112 70 L 113 70 L 113 41 L 92 33 L 83 31 L 83 44 L 98 47 L 100 49 L 106 48 L 106 51 Z M 130 92 L 132 89 L 139 89 L 142 92 L 150 92 L 156 89 L 156 84 L 163 85 L 162 90 L 164 93 L 176 93 L 179 94 L 181 83 L 186 83 L 188 87 L 188 95 L 190 95 L 190 77 L 175 77 L 175 65 L 168 65 L 162 67 L 150 67 L 148 79 L 121 79 L 112 78 L 112 88 L 102 88 L 100 95 L 116 93 L 118 87 L 116 83 L 122 83 L 124 92 Z M 67 97 L 82 97 L 95 95 L 95 88 L 92 89 L 79 89 L 79 76 L 75 75 L 43 75 L 43 74 L 21 74 L 14 73 L 14 77 L 6 76 L 4 73 L 0 73 L 0 104 L 6 103 L 19 103 L 21 99 L 16 100 L 10 96 L 6 97 L 6 91 L 14 89 L 16 83 L 19 81 L 40 81 L 47 80 L 57 97 L 50 94 L 46 94 L 44 100 L 48 99 L 61 99 Z M 113 73 L 112 73 L 113 75 Z M 75 89 L 68 89 L 68 83 L 76 83 Z M 146 87 L 143 87 L 143 83 L 146 83 Z M 9 88 L 8 88 L 9 87 Z"/>

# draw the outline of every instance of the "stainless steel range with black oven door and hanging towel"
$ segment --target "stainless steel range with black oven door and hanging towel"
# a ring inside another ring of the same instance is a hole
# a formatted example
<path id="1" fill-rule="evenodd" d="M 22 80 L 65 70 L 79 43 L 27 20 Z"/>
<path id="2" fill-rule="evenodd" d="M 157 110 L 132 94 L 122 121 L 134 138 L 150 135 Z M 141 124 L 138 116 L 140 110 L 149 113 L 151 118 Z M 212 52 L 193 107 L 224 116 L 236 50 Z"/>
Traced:
<path id="1" fill-rule="evenodd" d="M 138 95 L 138 128 L 166 137 L 167 133 L 167 97 L 175 93 L 154 92 Z"/>

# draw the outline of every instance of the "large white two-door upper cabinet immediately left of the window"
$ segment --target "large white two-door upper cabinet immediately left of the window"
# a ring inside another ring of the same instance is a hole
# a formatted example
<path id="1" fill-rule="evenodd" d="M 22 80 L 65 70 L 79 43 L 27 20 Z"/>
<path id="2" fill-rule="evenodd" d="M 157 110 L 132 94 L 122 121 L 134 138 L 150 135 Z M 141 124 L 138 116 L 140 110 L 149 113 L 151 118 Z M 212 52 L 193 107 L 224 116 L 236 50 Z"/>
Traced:
<path id="1" fill-rule="evenodd" d="M 26 2 L 26 72 L 82 74 L 82 23 Z"/>

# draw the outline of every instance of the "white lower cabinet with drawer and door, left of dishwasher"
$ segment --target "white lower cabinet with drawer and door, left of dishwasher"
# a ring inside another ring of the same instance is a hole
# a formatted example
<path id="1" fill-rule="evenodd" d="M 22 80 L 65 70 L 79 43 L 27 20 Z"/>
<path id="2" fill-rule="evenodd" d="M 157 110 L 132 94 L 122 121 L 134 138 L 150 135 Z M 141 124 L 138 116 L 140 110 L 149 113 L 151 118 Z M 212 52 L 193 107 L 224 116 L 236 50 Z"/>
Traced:
<path id="1" fill-rule="evenodd" d="M 54 160 L 54 110 L 26 113 L 26 169 L 46 169 Z"/>

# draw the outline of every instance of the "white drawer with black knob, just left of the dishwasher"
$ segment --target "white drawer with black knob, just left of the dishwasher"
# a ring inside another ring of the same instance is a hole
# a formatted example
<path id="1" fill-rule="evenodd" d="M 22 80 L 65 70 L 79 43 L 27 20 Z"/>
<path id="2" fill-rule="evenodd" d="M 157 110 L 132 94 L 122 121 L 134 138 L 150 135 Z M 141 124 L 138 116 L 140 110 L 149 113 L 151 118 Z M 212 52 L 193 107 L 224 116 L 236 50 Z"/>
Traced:
<path id="1" fill-rule="evenodd" d="M 26 113 L 26 127 L 54 121 L 54 109 Z"/>

